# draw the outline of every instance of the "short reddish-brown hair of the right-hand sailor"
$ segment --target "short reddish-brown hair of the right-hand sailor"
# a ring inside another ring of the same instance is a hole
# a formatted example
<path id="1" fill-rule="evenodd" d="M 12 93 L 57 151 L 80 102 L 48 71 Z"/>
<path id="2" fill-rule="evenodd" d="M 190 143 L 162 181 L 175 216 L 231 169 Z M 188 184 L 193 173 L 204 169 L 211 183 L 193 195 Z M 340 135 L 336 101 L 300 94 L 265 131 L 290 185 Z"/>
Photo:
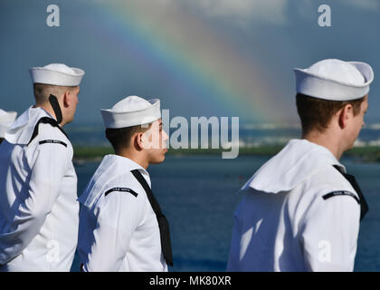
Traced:
<path id="1" fill-rule="evenodd" d="M 329 101 L 297 93 L 297 111 L 302 125 L 302 133 L 309 131 L 325 131 L 333 115 L 347 104 L 353 107 L 354 116 L 359 114 L 366 96 L 352 101 Z"/>

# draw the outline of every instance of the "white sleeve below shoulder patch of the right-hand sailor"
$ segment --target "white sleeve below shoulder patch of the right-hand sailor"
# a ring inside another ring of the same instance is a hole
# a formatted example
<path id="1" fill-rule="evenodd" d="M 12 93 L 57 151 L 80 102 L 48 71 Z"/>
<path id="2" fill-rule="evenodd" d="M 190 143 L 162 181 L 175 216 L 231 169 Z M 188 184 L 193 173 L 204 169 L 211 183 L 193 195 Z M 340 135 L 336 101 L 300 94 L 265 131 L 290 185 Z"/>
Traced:
<path id="1" fill-rule="evenodd" d="M 309 271 L 353 271 L 359 232 L 360 205 L 347 195 L 311 204 L 303 222 L 300 242 Z"/>

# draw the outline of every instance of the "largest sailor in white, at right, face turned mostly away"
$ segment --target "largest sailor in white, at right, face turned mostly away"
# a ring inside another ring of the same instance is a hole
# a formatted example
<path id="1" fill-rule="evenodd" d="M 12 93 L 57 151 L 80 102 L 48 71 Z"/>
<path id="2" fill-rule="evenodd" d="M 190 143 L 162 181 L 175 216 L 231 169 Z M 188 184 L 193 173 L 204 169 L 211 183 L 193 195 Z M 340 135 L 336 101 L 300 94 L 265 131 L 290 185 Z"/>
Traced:
<path id="1" fill-rule="evenodd" d="M 302 138 L 242 187 L 228 271 L 353 271 L 366 200 L 339 162 L 364 125 L 366 63 L 327 59 L 295 69 Z"/>

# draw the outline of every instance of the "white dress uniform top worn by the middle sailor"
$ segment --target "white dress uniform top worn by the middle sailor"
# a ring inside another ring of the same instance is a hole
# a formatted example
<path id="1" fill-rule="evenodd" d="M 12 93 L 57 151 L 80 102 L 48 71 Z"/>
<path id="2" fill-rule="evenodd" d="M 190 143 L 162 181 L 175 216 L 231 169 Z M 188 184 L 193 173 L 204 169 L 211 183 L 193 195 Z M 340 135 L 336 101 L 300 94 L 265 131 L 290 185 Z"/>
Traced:
<path id="1" fill-rule="evenodd" d="M 78 253 L 84 271 L 167 271 L 157 218 L 147 194 L 130 172 L 138 163 L 107 155 L 81 198 Z"/>

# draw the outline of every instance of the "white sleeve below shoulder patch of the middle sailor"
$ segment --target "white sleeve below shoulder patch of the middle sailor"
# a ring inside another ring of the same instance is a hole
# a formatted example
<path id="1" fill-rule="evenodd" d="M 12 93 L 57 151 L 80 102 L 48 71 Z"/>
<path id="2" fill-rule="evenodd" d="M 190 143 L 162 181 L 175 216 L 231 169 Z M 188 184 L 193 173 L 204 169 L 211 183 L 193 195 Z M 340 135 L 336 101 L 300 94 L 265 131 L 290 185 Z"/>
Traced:
<path id="1" fill-rule="evenodd" d="M 114 191 L 104 197 L 93 231 L 93 242 L 84 271 L 117 272 L 126 257 L 133 232 L 144 215 L 141 195 Z"/>

